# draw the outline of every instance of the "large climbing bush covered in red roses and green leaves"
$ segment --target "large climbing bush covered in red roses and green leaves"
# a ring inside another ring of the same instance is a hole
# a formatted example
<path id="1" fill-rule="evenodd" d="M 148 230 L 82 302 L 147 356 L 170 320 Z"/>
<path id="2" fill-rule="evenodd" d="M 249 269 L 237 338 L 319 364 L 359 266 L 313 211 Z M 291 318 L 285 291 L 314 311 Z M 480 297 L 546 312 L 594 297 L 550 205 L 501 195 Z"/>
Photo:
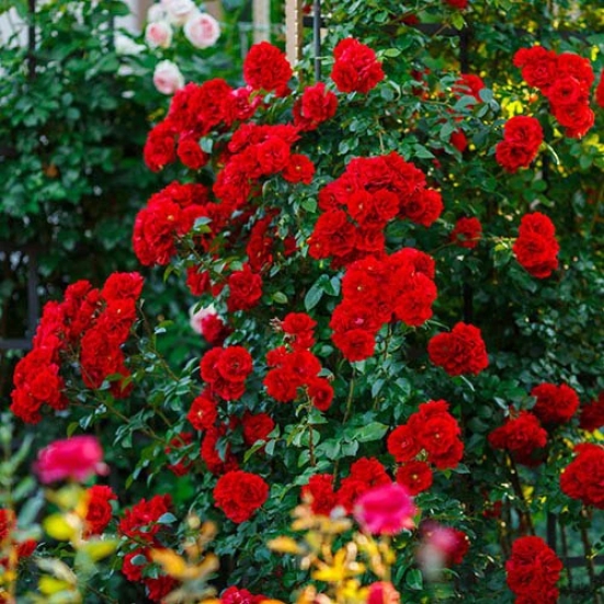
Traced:
<path id="1" fill-rule="evenodd" d="M 12 410 L 57 413 L 69 433 L 98 426 L 125 452 L 109 533 L 122 536 L 116 567 L 151 600 L 189 589 L 167 551 L 191 510 L 221 525 L 224 602 L 312 601 L 349 571 L 369 601 L 600 597 L 601 41 L 589 7 L 581 42 L 536 4 L 465 4 L 343 0 L 323 82 L 263 43 L 244 86 L 174 93 L 144 156 L 180 178 L 139 209 L 133 248 L 189 286 L 175 312 L 202 311 L 180 365 L 139 275 L 71 285 L 46 307 Z M 465 20 L 469 61 L 451 37 Z M 404 493 L 409 514 L 390 518 L 374 489 Z M 319 518 L 300 516 L 305 528 L 386 518 L 391 573 L 369 588 L 344 548 L 307 586 L 263 545 L 288 532 L 300 497 Z M 538 535 L 548 514 L 558 555 Z M 559 562 L 577 554 L 583 588 Z"/>

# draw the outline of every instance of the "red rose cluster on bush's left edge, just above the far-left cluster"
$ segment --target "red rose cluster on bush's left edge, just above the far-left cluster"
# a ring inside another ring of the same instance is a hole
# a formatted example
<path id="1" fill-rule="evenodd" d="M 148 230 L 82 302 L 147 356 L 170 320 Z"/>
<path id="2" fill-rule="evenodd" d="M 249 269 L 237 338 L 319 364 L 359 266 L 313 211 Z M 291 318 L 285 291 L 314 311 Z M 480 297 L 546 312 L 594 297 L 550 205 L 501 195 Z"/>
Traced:
<path id="1" fill-rule="evenodd" d="M 209 216 L 208 191 L 203 184 L 172 182 L 156 193 L 136 215 L 133 247 L 145 266 L 164 265 L 176 253 L 176 241 L 197 218 Z"/>

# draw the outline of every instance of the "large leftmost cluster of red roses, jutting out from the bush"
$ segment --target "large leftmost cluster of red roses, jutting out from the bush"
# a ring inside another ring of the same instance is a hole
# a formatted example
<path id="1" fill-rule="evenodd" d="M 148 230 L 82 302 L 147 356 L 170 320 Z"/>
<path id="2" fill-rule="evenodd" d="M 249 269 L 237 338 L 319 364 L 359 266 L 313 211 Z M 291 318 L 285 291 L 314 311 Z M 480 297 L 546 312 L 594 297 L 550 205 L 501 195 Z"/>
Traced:
<path id="1" fill-rule="evenodd" d="M 37 423 L 43 404 L 66 409 L 65 381 L 59 375 L 61 360 L 78 360 L 88 388 L 99 388 L 114 374 L 126 378 L 122 345 L 136 320 L 136 303 L 143 290 L 138 273 L 113 273 L 102 289 L 88 281 L 70 285 L 64 301 L 44 307 L 33 349 L 14 371 L 11 411 L 27 423 Z M 129 388 L 113 381 L 111 392 L 126 397 Z"/>

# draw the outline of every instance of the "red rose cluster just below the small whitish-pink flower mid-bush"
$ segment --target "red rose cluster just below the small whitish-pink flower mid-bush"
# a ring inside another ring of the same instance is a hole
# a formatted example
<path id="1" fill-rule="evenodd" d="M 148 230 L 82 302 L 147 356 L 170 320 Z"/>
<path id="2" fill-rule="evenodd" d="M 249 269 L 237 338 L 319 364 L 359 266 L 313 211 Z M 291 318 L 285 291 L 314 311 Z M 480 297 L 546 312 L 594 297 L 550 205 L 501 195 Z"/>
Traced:
<path id="1" fill-rule="evenodd" d="M 215 346 L 204 354 L 200 369 L 212 395 L 238 400 L 246 392 L 246 379 L 253 369 L 252 355 L 243 346 Z"/>

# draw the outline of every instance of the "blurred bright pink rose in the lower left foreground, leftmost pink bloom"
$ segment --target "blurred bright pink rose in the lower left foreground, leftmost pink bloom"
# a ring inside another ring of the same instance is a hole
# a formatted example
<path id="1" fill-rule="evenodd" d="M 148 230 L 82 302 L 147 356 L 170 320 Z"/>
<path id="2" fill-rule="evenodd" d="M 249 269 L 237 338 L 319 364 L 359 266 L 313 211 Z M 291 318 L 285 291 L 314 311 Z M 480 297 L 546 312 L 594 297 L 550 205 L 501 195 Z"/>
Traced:
<path id="1" fill-rule="evenodd" d="M 101 444 L 94 436 L 73 436 L 50 443 L 38 452 L 34 469 L 45 485 L 66 478 L 82 482 L 94 474 L 109 471 Z"/>

